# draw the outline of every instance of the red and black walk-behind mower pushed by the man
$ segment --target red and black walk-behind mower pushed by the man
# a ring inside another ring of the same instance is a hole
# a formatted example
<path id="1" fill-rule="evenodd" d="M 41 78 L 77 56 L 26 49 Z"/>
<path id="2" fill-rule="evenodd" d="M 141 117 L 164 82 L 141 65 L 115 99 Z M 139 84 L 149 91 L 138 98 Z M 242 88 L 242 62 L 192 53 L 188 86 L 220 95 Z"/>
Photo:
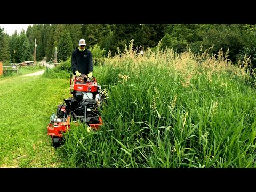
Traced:
<path id="1" fill-rule="evenodd" d="M 64 139 L 64 133 L 70 129 L 70 122 L 86 123 L 93 130 L 102 125 L 99 108 L 103 101 L 101 86 L 95 77 L 86 75 L 73 78 L 70 74 L 70 97 L 57 106 L 56 114 L 50 117 L 47 135 L 52 138 L 54 147 L 58 147 Z"/>

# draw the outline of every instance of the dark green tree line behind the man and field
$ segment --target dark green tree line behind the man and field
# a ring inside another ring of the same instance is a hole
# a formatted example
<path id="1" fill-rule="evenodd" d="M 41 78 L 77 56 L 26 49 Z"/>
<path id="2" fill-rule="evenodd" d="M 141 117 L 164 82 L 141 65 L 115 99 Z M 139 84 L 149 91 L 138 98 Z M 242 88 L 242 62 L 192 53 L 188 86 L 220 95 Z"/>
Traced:
<path id="1" fill-rule="evenodd" d="M 81 38 L 87 47 L 100 47 L 103 57 L 122 52 L 133 39 L 134 50 L 154 48 L 159 41 L 162 49 L 177 53 L 209 49 L 214 55 L 222 49 L 233 63 L 249 58 L 256 67 L 256 25 L 250 24 L 34 24 L 11 36 L 0 27 L 0 61 L 34 60 L 35 39 L 38 60 L 52 61 L 57 48 L 58 60 L 66 61 Z"/>

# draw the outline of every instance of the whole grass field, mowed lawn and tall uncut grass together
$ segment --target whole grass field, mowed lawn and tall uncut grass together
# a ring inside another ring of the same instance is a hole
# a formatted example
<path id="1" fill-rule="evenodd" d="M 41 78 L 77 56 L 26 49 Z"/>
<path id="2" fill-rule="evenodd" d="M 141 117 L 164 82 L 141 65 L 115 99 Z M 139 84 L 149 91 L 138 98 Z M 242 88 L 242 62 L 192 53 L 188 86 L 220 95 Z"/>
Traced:
<path id="1" fill-rule="evenodd" d="M 57 149 L 46 127 L 69 73 L 0 79 L 0 167 L 255 167 L 254 79 L 226 55 L 105 58 L 93 72 L 107 93 L 103 126 L 72 126 Z"/>

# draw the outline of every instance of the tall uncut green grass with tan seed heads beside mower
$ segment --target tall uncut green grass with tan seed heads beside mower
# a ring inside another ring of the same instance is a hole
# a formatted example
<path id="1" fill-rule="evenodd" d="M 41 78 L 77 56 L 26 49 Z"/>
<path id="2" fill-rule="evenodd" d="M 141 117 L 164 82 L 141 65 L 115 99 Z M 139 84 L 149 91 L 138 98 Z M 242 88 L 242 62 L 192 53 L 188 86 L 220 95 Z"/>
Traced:
<path id="1" fill-rule="evenodd" d="M 132 42 L 130 47 L 132 47 Z M 255 167 L 255 89 L 228 53 L 106 58 L 94 75 L 108 92 L 103 126 L 67 133 L 75 167 Z"/>

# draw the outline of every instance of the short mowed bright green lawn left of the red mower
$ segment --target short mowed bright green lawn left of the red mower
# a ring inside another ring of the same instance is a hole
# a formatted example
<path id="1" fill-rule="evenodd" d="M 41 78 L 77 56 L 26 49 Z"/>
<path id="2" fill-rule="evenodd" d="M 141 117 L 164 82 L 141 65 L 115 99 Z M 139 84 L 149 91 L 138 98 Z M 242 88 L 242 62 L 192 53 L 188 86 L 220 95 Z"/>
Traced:
<path id="1" fill-rule="evenodd" d="M 41 76 L 0 79 L 0 167 L 65 167 L 47 125 L 69 86 L 70 79 Z"/>

